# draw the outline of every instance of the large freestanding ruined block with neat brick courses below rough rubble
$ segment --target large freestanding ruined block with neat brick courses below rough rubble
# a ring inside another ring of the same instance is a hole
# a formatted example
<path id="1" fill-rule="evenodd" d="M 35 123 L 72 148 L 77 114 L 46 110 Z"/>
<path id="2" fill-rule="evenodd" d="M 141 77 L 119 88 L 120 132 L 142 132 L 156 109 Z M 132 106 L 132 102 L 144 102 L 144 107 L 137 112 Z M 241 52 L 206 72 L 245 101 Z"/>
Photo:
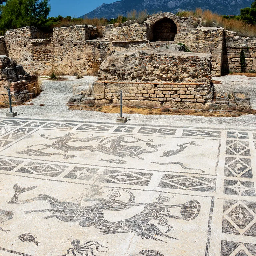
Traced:
<path id="1" fill-rule="evenodd" d="M 115 52 L 101 64 L 93 94 L 114 102 L 121 89 L 127 101 L 205 103 L 213 97 L 210 55 L 163 48 Z"/>

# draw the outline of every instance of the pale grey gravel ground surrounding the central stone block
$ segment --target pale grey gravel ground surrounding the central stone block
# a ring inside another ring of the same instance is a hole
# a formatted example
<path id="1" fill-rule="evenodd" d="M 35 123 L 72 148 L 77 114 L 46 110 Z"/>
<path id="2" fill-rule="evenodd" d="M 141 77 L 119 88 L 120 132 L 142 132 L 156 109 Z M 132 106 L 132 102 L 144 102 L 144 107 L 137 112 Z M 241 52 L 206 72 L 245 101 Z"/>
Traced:
<path id="1" fill-rule="evenodd" d="M 18 112 L 19 118 L 44 118 L 53 120 L 84 120 L 98 122 L 115 122 L 117 114 L 101 113 L 97 111 L 69 110 L 67 101 L 73 95 L 74 88 L 95 81 L 97 77 L 87 76 L 83 79 L 75 79 L 74 76 L 64 76 L 67 81 L 43 80 L 43 92 L 33 99 L 33 106 L 13 107 L 13 111 Z M 246 76 L 223 76 L 214 77 L 214 80 L 221 81 L 221 85 L 216 85 L 216 91 L 247 91 L 250 94 L 254 108 L 256 109 L 256 77 Z M 222 89 L 225 87 L 225 90 Z M 253 88 L 255 87 L 255 89 Z M 39 104 L 45 106 L 39 106 Z M 0 109 L 2 117 L 7 113 L 7 109 Z M 201 117 L 201 116 L 179 116 L 179 115 L 141 115 L 125 114 L 128 123 L 134 124 L 159 124 L 159 125 L 180 125 L 180 126 L 219 126 L 219 127 L 256 127 L 256 115 L 243 115 L 237 118 L 231 117 Z"/>

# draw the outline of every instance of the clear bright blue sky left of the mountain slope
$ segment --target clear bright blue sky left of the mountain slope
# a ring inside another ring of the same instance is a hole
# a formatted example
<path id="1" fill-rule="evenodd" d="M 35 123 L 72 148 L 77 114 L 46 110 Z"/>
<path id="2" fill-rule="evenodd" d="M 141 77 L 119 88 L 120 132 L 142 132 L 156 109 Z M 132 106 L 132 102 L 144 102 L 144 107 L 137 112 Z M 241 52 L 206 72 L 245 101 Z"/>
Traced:
<path id="1" fill-rule="evenodd" d="M 103 3 L 109 4 L 117 0 L 50 0 L 50 17 L 61 15 L 76 18 L 82 16 Z"/>

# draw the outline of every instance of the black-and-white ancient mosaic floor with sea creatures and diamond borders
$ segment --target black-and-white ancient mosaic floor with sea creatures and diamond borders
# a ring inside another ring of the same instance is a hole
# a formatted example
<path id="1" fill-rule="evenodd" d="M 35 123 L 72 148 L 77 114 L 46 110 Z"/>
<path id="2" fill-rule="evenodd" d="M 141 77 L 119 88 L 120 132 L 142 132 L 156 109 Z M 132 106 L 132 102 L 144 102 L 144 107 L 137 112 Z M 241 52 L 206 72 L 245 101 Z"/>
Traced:
<path id="1" fill-rule="evenodd" d="M 0 119 L 0 255 L 256 255 L 256 130 Z"/>

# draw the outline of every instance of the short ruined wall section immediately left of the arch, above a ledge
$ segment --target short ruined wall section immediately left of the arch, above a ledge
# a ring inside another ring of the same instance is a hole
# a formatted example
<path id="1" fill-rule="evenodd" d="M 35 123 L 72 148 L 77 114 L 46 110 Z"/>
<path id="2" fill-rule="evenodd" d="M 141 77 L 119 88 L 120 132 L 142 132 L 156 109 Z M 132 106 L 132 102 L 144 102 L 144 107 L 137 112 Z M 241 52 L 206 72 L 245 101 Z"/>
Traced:
<path id="1" fill-rule="evenodd" d="M 134 23 L 129 26 L 116 27 L 110 32 L 111 41 L 138 41 L 147 39 L 146 24 Z"/>

